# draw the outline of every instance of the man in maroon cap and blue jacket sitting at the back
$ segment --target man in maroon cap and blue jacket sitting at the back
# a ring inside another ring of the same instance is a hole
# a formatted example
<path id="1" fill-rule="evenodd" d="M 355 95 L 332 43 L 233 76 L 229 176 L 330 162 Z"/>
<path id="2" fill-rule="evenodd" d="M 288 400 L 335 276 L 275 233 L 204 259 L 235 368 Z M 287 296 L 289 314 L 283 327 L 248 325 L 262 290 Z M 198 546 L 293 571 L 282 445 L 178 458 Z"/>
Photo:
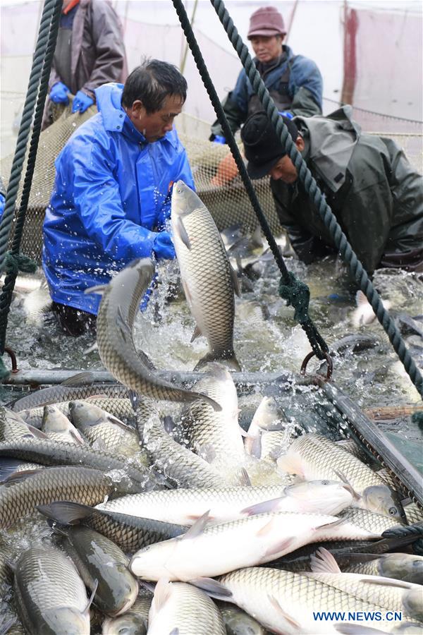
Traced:
<path id="1" fill-rule="evenodd" d="M 274 6 L 264 6 L 252 13 L 247 38 L 255 52 L 257 70 L 276 107 L 285 116 L 321 114 L 323 82 L 319 68 L 311 59 L 294 55 L 282 43 L 285 35 L 283 17 Z M 245 70 L 240 72 L 235 88 L 222 106 L 233 133 L 253 112 L 262 110 Z M 226 143 L 223 134 L 219 121 L 215 121 L 210 140 Z"/>

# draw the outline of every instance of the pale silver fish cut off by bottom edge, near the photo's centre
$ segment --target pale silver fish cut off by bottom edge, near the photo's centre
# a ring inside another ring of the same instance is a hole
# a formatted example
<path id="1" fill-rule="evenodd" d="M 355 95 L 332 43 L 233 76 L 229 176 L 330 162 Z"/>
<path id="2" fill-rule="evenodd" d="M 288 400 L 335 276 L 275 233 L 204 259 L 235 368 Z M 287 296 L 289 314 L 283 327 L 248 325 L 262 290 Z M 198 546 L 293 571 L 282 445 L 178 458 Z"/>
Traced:
<path id="1" fill-rule="evenodd" d="M 149 610 L 149 635 L 226 635 L 221 612 L 200 588 L 159 580 Z"/>

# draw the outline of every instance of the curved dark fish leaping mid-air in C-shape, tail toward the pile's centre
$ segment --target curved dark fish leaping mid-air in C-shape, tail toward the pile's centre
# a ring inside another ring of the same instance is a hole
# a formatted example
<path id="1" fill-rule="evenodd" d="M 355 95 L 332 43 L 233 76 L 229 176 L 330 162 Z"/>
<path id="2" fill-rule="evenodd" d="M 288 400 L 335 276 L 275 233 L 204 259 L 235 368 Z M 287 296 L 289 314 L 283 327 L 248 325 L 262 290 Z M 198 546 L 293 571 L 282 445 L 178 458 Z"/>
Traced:
<path id="1" fill-rule="evenodd" d="M 162 380 L 152 370 L 147 356 L 135 350 L 133 323 L 153 274 L 151 258 L 133 260 L 109 284 L 87 289 L 86 293 L 102 295 L 97 315 L 99 356 L 119 382 L 136 392 L 168 401 L 204 399 L 220 410 L 219 404 L 207 395 Z"/>

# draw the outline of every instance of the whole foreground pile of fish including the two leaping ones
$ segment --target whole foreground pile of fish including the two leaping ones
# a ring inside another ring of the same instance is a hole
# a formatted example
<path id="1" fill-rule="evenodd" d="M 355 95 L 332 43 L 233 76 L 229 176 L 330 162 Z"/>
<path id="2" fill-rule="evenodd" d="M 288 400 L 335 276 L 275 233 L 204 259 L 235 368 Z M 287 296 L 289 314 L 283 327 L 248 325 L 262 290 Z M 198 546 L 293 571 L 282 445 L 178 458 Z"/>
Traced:
<path id="1" fill-rule="evenodd" d="M 173 236 L 209 342 L 202 378 L 168 382 L 135 349 L 145 259 L 96 289 L 99 354 L 121 383 L 0 407 L 0 634 L 422 632 L 416 536 L 384 536 L 422 509 L 355 442 L 293 437 L 273 397 L 240 427 L 234 277 L 187 191 L 173 188 Z"/>

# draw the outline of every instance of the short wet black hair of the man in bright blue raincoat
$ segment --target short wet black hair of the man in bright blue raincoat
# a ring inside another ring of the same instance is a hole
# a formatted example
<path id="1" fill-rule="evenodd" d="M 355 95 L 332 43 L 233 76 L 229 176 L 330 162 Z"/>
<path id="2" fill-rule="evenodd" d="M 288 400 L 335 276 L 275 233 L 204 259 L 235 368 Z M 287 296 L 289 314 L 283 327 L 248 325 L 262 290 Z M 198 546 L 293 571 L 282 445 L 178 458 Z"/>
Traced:
<path id="1" fill-rule="evenodd" d="M 136 99 L 140 99 L 147 114 L 152 114 L 163 108 L 168 95 L 180 95 L 185 102 L 185 77 L 173 64 L 159 59 L 147 59 L 128 75 L 123 87 L 122 105 L 130 108 Z"/>

